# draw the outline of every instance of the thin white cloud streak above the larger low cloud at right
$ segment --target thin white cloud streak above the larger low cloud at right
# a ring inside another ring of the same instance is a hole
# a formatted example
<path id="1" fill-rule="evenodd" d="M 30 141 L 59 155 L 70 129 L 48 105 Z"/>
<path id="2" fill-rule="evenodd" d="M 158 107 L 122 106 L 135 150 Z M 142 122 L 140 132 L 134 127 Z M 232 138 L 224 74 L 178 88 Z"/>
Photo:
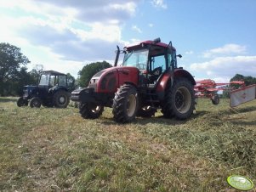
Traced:
<path id="1" fill-rule="evenodd" d="M 246 46 L 237 44 L 225 44 L 220 48 L 213 48 L 203 53 L 204 58 L 210 58 L 215 55 L 230 55 L 230 54 L 246 54 Z"/>

